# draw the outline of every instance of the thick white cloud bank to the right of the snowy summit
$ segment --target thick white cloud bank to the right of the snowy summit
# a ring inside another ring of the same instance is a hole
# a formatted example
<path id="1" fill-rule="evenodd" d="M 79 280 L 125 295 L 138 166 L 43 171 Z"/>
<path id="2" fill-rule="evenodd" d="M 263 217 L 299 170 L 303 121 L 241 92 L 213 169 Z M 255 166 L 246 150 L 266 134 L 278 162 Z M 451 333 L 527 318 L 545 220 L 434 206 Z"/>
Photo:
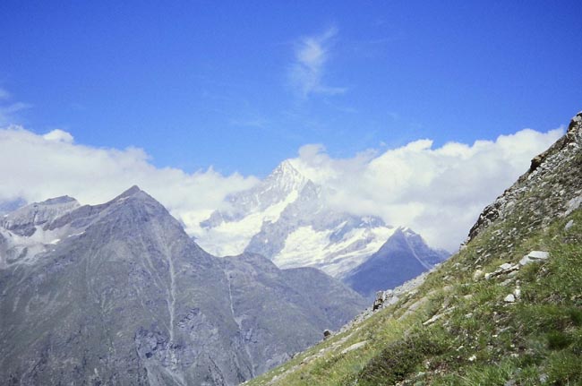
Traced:
<path id="1" fill-rule="evenodd" d="M 306 145 L 292 162 L 326 187 L 332 207 L 411 227 L 430 244 L 454 251 L 484 206 L 562 134 L 563 129 L 526 129 L 495 141 L 449 142 L 440 148 L 419 140 L 353 159 L 332 159 L 321 145 Z"/>

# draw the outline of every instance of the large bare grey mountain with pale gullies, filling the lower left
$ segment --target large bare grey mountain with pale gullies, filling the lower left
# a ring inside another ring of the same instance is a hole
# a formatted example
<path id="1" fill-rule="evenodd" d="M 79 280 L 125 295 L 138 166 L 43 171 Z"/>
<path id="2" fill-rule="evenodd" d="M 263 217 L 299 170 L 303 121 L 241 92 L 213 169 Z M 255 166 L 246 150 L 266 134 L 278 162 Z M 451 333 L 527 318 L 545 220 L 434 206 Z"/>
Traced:
<path id="1" fill-rule="evenodd" d="M 60 209 L 0 228 L 3 384 L 235 384 L 364 307 L 320 271 L 205 253 L 137 187 L 98 206 L 48 203 Z"/>

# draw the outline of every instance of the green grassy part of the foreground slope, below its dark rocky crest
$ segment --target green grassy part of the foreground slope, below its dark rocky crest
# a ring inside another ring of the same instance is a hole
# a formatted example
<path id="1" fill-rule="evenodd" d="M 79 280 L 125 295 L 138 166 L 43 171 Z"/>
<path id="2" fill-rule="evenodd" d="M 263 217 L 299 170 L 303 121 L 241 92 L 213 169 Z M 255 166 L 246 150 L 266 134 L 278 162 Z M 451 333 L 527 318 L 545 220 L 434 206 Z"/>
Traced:
<path id="1" fill-rule="evenodd" d="M 488 227 L 397 304 L 248 384 L 582 384 L 582 211 L 507 244 L 498 236 L 515 232 L 511 224 Z M 514 276 L 474 278 L 532 250 L 551 258 Z M 518 285 L 521 298 L 504 302 Z"/>

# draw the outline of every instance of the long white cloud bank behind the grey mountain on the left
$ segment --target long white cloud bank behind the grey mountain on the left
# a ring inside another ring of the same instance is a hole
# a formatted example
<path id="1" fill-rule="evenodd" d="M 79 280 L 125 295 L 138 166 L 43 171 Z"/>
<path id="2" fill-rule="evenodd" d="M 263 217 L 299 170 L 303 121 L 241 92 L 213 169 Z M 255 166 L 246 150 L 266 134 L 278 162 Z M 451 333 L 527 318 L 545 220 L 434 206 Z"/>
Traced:
<path id="1" fill-rule="evenodd" d="M 141 149 L 98 149 L 75 144 L 63 130 L 38 135 L 21 126 L 0 129 L 0 175 L 0 202 L 39 202 L 68 194 L 96 204 L 138 184 L 190 231 L 220 208 L 228 193 L 256 183 L 254 177 L 222 176 L 211 167 L 192 174 L 158 168 Z"/>

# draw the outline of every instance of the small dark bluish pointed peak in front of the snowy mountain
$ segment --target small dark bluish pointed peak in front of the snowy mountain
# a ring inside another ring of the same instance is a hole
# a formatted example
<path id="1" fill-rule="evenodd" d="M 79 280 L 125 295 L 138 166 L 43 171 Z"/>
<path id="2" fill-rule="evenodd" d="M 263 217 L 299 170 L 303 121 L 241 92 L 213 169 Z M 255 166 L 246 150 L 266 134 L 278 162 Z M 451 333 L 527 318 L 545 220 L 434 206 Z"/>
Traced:
<path id="1" fill-rule="evenodd" d="M 448 252 L 431 249 L 423 238 L 407 228 L 398 228 L 377 253 L 347 273 L 344 282 L 362 296 L 398 287 L 407 280 L 445 261 Z"/>

